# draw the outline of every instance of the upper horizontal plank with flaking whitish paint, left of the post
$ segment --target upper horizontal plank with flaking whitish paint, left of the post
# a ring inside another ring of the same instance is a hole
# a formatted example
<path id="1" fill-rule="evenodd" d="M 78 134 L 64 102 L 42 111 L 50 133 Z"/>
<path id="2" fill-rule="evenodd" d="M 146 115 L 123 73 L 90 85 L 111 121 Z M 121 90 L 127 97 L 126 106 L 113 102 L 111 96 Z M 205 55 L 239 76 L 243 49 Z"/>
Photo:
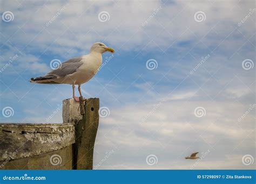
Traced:
<path id="1" fill-rule="evenodd" d="M 73 143 L 72 124 L 0 124 L 0 161 L 57 151 Z"/>

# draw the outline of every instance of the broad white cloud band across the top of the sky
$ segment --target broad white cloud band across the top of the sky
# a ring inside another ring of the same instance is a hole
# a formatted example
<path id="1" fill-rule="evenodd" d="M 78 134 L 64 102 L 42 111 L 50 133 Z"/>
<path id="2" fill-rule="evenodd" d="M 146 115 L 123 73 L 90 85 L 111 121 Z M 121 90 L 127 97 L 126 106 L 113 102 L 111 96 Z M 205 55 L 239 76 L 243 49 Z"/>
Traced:
<path id="1" fill-rule="evenodd" d="M 162 9 L 143 27 L 142 23 L 152 15 L 154 9 L 160 6 Z M 9 39 L 11 43 L 19 45 L 19 49 L 23 49 L 25 45 L 26 51 L 46 50 L 54 54 L 63 54 L 65 50 L 72 55 L 80 55 L 89 51 L 91 44 L 98 40 L 106 41 L 117 50 L 131 50 L 139 45 L 142 48 L 159 46 L 165 51 L 173 42 L 175 44 L 172 48 L 175 48 L 179 47 L 177 44 L 181 41 L 196 41 L 202 38 L 214 25 L 211 31 L 214 37 L 211 38 L 211 34 L 208 34 L 202 41 L 208 47 L 218 45 L 220 40 L 237 26 L 238 21 L 251 6 L 250 2 L 238 1 L 216 1 L 211 5 L 208 2 L 163 4 L 160 1 L 147 3 L 68 1 L 46 2 L 44 5 L 42 2 L 22 2 L 20 6 L 17 6 L 17 2 L 10 2 L 3 7 L 13 11 L 15 15 L 12 24 L 3 26 L 1 23 L 3 32 L 10 32 L 8 37 L 2 40 L 3 42 Z M 60 15 L 49 26 L 45 26 L 63 7 L 65 9 Z M 194 13 L 198 10 L 206 13 L 206 20 L 203 23 L 194 21 Z M 100 11 L 109 12 L 108 22 L 98 21 Z M 226 21 L 231 27 L 226 27 Z M 251 19 L 248 19 L 247 24 L 239 27 L 246 37 L 253 34 L 253 30 L 248 29 L 251 22 Z M 240 33 L 238 34 L 241 36 Z M 231 37 L 233 38 L 232 34 Z M 149 44 L 152 39 L 153 43 Z M 227 39 L 228 42 L 223 44 L 228 44 L 229 47 L 221 48 L 229 49 L 232 46 L 230 42 L 233 39 L 230 37 Z"/>

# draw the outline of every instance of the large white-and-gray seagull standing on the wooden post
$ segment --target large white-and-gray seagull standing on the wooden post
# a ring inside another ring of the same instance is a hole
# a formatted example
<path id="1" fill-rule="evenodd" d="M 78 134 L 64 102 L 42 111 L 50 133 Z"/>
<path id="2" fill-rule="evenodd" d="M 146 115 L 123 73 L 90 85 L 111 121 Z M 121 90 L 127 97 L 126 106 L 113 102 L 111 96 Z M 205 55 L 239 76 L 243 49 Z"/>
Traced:
<path id="1" fill-rule="evenodd" d="M 31 78 L 30 82 L 42 84 L 71 84 L 73 89 L 73 98 L 79 102 L 75 96 L 75 85 L 78 85 L 80 96 L 81 84 L 89 81 L 102 65 L 102 54 L 106 51 L 114 52 L 113 48 L 105 44 L 96 42 L 91 46 L 90 53 L 77 58 L 64 61 L 57 69 L 52 69 L 44 76 Z"/>

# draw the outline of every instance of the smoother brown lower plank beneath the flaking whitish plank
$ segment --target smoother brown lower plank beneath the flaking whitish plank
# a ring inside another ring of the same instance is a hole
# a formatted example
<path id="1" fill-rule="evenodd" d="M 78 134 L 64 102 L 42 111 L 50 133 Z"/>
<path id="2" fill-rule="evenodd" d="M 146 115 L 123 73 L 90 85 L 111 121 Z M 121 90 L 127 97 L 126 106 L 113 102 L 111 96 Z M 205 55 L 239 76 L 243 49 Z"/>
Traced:
<path id="1" fill-rule="evenodd" d="M 0 161 L 0 169 L 72 169 L 72 145 L 32 157 Z"/>

